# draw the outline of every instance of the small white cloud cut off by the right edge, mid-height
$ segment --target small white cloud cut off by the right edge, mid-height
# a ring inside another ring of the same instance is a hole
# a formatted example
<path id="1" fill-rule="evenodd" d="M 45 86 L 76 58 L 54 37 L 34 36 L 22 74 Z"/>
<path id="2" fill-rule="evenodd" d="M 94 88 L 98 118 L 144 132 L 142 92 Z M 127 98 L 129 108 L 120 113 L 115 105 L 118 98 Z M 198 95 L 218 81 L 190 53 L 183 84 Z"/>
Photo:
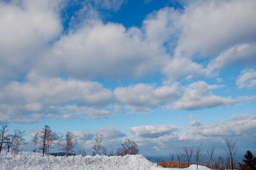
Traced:
<path id="1" fill-rule="evenodd" d="M 256 71 L 243 70 L 238 77 L 236 84 L 239 88 L 256 88 Z"/>

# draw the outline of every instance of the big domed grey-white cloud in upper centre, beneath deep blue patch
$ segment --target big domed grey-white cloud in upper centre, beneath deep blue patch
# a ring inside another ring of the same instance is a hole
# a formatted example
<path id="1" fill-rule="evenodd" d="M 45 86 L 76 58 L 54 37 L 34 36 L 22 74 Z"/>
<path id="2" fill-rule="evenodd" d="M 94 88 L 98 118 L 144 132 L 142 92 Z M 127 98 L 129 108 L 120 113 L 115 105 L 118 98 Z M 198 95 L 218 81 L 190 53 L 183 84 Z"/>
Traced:
<path id="1" fill-rule="evenodd" d="M 159 70 L 166 58 L 156 43 L 142 40 L 140 29 L 87 20 L 74 33 L 61 36 L 36 70 L 79 78 L 140 77 Z"/>

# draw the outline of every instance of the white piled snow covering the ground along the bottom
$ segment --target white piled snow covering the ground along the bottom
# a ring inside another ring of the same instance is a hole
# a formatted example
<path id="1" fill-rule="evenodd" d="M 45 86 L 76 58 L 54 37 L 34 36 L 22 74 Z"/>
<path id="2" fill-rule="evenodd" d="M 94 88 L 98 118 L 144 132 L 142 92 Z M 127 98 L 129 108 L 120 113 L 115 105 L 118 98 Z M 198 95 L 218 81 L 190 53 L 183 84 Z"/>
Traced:
<path id="1" fill-rule="evenodd" d="M 42 157 L 42 154 L 24 155 L 1 155 L 0 169 L 165 169 L 157 167 L 156 164 L 148 161 L 142 155 L 126 155 L 124 157 L 100 156 L 95 157 L 81 155 L 70 157 Z M 167 168 L 166 168 L 167 169 Z M 195 165 L 190 166 L 184 170 L 196 169 Z M 209 170 L 207 167 L 200 166 L 200 170 Z M 173 169 L 174 170 L 174 169 Z"/>

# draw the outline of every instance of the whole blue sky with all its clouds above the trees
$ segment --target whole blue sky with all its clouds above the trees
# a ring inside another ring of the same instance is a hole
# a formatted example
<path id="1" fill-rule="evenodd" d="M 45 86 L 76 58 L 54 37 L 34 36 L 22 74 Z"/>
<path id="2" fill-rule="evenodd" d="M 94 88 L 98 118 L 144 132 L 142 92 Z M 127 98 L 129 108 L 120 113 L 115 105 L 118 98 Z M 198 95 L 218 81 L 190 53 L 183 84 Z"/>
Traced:
<path id="1" fill-rule="evenodd" d="M 0 123 L 92 153 L 256 151 L 256 1 L 0 1 Z"/>

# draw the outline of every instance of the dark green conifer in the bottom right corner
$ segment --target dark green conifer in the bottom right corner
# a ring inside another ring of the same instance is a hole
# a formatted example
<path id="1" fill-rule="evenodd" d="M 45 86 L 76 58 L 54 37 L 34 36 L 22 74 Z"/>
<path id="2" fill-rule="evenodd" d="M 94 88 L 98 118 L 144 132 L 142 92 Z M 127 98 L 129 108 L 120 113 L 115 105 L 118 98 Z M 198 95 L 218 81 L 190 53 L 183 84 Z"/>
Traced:
<path id="1" fill-rule="evenodd" d="M 246 151 L 243 163 L 239 163 L 239 169 L 241 170 L 256 170 L 256 157 L 251 151 Z"/>

